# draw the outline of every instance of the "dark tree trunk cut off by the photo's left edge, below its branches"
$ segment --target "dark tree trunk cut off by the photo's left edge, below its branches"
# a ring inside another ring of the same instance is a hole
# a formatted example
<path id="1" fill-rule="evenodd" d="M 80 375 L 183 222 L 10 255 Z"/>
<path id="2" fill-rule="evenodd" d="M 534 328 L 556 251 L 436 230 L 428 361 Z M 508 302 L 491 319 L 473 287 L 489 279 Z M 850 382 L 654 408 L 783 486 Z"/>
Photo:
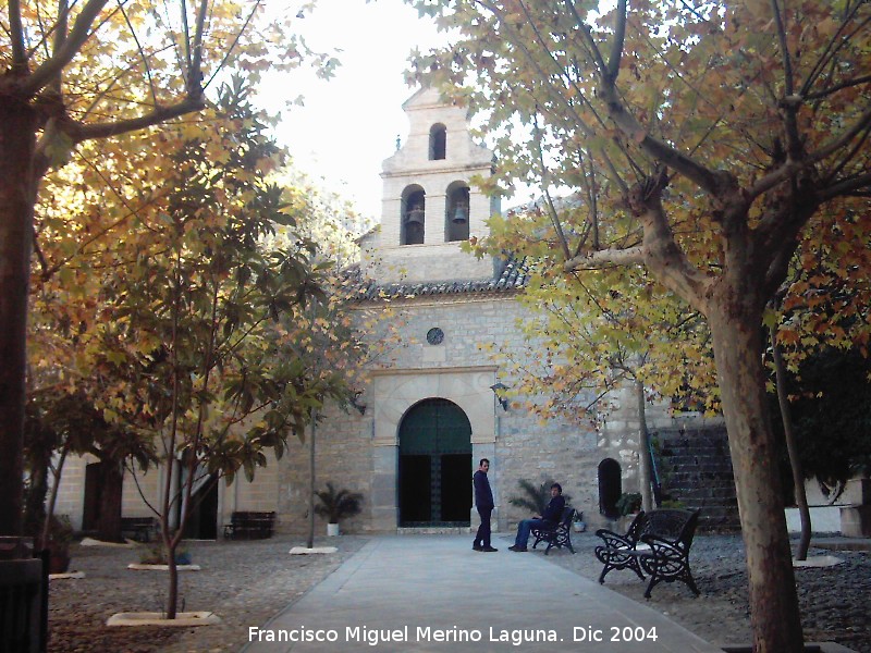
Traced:
<path id="1" fill-rule="evenodd" d="M 22 534 L 35 148 L 30 107 L 19 98 L 0 97 L 0 535 Z"/>

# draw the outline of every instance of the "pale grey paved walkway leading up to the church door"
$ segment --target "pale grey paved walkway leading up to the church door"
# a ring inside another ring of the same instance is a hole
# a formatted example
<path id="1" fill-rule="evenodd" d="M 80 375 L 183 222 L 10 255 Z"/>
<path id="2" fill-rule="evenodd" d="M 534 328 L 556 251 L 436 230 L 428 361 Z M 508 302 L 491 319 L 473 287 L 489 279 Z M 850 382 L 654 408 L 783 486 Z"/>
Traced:
<path id="1" fill-rule="evenodd" d="M 722 653 L 539 552 L 512 553 L 498 538 L 494 545 L 499 553 L 473 551 L 471 535 L 373 538 L 249 631 L 244 651 Z"/>

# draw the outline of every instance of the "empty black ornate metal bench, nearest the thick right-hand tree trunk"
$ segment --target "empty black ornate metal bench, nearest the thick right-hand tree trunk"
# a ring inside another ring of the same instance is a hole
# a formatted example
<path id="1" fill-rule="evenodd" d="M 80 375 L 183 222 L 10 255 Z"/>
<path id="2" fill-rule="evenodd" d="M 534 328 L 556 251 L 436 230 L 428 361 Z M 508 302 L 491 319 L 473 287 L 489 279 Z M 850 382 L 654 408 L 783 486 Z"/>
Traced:
<path id="1" fill-rule="evenodd" d="M 661 509 L 639 513 L 625 535 L 608 529 L 596 534 L 604 544 L 596 547 L 596 557 L 604 567 L 599 582 L 613 569 L 631 569 L 641 580 L 645 574 L 650 582 L 645 597 L 660 582 L 679 580 L 698 596 L 699 589 L 689 568 L 689 550 L 699 521 L 698 510 Z"/>

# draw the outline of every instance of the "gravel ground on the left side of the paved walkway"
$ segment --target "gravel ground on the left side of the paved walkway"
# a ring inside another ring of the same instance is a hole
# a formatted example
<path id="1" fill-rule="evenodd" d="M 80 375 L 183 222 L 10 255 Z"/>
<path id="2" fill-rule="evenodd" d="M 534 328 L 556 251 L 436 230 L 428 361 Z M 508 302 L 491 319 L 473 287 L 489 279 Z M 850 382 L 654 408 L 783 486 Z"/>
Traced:
<path id="1" fill-rule="evenodd" d="M 211 609 L 221 624 L 199 628 L 107 627 L 119 612 L 163 609 L 165 571 L 133 571 L 138 549 L 73 547 L 70 569 L 78 580 L 52 580 L 49 590 L 49 651 L 52 653 L 186 653 L 238 651 L 248 626 L 261 626 L 284 609 L 366 542 L 344 535 L 317 540 L 315 546 L 336 546 L 329 555 L 287 555 L 299 538 L 191 542 L 187 547 L 201 571 L 179 574 L 185 611 Z M 181 602 L 180 602 L 181 606 Z M 181 609 L 181 607 L 180 607 Z"/>

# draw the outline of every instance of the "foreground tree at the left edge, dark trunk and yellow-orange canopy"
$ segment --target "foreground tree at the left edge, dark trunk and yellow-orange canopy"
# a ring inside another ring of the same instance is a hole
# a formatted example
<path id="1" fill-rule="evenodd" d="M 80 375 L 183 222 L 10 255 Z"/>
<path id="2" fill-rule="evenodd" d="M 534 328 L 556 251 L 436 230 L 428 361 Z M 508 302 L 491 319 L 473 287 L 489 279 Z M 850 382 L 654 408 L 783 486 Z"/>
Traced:
<path id="1" fill-rule="evenodd" d="M 261 0 L 37 0 L 8 3 L 1 20 L 0 445 L 7 455 L 0 460 L 0 529 L 14 534 L 21 530 L 30 256 L 44 226 L 34 207 L 45 196 L 46 174 L 77 158 L 91 174 L 71 183 L 93 187 L 95 177 L 112 178 L 133 213 L 139 182 L 155 168 L 126 165 L 133 150 L 116 147 L 120 135 L 138 134 L 139 155 L 160 151 L 159 130 L 144 131 L 200 111 L 231 71 L 256 81 L 267 69 L 311 62 L 329 74 L 335 61 L 309 52 L 289 23 L 295 19 L 267 16 Z M 56 207 L 63 207 L 65 197 L 58 199 Z M 86 223 L 68 255 L 124 220 L 123 212 Z M 63 274 L 72 281 L 71 272 Z"/>

